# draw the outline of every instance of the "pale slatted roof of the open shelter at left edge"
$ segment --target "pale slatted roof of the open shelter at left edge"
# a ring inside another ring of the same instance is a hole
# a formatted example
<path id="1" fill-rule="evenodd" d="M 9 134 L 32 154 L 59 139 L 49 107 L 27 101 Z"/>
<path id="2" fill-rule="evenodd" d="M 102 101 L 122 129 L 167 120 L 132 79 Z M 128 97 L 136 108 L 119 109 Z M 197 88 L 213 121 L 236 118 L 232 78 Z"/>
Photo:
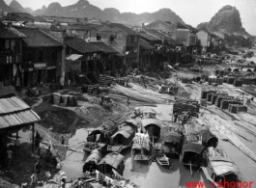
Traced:
<path id="1" fill-rule="evenodd" d="M 20 98 L 13 96 L 0 99 L 0 128 L 40 120 L 39 115 Z"/>

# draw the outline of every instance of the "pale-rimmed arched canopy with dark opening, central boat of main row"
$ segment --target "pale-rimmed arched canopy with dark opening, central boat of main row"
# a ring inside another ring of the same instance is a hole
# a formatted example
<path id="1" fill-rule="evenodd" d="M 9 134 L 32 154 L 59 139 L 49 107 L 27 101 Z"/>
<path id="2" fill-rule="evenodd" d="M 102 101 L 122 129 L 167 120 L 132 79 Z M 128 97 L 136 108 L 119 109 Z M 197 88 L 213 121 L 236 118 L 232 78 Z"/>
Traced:
<path id="1" fill-rule="evenodd" d="M 158 139 L 160 137 L 160 130 L 162 122 L 157 119 L 144 119 L 141 121 L 142 127 L 148 131 L 150 138 Z M 154 142 L 155 142 L 154 141 Z"/>

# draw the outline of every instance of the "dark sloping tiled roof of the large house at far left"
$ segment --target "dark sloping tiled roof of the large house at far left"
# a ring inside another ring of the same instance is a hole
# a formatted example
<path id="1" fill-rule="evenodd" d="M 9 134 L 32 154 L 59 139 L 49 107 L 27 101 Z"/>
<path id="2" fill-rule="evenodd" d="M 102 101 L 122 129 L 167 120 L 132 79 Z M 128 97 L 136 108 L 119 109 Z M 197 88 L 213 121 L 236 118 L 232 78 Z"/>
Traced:
<path id="1" fill-rule="evenodd" d="M 16 27 L 16 29 L 26 35 L 24 42 L 30 47 L 50 47 L 50 46 L 62 46 L 58 40 L 54 40 L 48 35 L 44 34 L 38 28 L 28 27 Z"/>

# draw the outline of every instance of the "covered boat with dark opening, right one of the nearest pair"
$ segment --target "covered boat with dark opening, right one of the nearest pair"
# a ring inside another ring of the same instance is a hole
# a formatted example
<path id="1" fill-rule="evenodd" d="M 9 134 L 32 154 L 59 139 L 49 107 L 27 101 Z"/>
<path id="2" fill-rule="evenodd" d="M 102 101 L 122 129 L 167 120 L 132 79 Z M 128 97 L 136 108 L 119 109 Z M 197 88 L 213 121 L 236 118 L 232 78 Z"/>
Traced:
<path id="1" fill-rule="evenodd" d="M 99 163 L 100 173 L 104 175 L 112 175 L 112 169 L 119 174 L 123 173 L 125 167 L 125 156 L 117 152 L 107 154 Z"/>

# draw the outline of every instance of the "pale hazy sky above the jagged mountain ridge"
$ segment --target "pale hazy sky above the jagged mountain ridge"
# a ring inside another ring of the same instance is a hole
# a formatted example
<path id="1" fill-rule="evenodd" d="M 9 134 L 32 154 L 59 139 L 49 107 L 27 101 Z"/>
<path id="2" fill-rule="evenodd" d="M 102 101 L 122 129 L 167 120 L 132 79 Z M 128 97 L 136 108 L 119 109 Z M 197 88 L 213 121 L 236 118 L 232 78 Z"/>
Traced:
<path id="1" fill-rule="evenodd" d="M 5 0 L 9 5 L 12 0 Z M 46 7 L 57 0 L 16 0 L 23 7 L 33 10 Z M 58 0 L 62 6 L 76 3 L 78 0 Z M 171 9 L 180 15 L 185 23 L 196 27 L 208 22 L 225 5 L 235 6 L 241 13 L 242 26 L 256 36 L 256 0 L 89 0 L 90 4 L 105 8 L 116 8 L 121 13 L 154 13 L 162 8 Z"/>

